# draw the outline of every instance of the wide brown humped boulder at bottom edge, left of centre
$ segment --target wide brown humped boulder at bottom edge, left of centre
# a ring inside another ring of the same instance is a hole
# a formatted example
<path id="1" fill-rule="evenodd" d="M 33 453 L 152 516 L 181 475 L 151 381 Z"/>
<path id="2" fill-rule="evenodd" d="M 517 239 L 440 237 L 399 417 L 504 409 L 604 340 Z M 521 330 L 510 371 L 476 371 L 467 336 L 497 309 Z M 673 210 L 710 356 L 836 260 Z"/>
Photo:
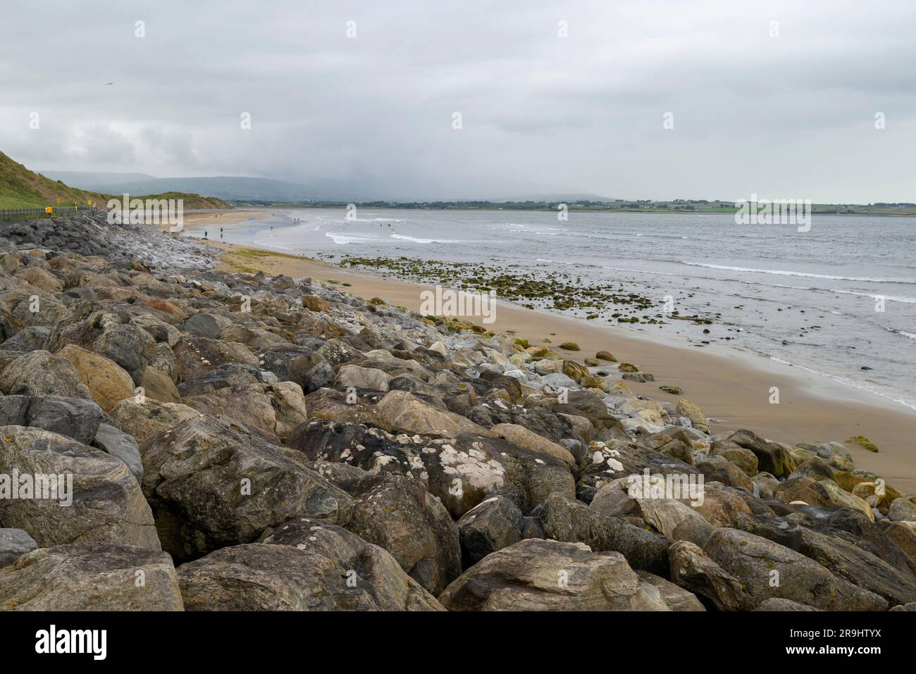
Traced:
<path id="1" fill-rule="evenodd" d="M 188 611 L 442 611 L 379 548 L 321 519 L 277 527 L 178 570 Z"/>

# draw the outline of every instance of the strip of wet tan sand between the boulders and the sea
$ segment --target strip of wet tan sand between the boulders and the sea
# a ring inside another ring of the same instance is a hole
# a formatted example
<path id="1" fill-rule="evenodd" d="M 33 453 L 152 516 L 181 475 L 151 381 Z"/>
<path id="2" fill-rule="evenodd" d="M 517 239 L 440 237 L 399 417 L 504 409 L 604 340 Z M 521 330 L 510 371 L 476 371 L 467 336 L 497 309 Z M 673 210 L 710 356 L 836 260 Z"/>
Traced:
<path id="1" fill-rule="evenodd" d="M 224 220 L 220 217 L 219 223 L 224 227 L 243 224 L 242 218 L 252 214 L 263 219 L 269 213 L 226 212 L 224 215 L 230 217 Z M 186 218 L 186 224 L 196 230 L 217 219 L 213 213 L 201 213 L 201 216 Z M 205 243 L 229 252 L 257 252 L 245 255 L 244 262 L 237 259 L 235 266 L 224 256 L 220 264 L 224 270 L 237 272 L 244 266 L 246 270 L 256 269 L 268 275 L 336 280 L 341 289 L 358 297 L 379 297 L 409 310 L 420 309 L 420 291 L 430 288 L 401 279 L 375 277 L 363 270 L 347 269 L 305 255 L 212 239 Z M 483 324 L 479 317 L 467 321 Z M 710 427 L 714 432 L 750 429 L 761 437 L 792 446 L 800 442 L 843 442 L 852 436 L 864 435 L 878 445 L 879 451 L 874 453 L 857 444 L 846 444 L 856 466 L 878 473 L 901 490 L 916 493 L 916 462 L 911 457 L 916 413 L 908 413 L 889 398 L 751 353 L 710 353 L 691 345 L 660 342 L 632 329 L 622 331 L 615 326 L 589 323 L 548 311 L 528 310 L 506 301 L 498 301 L 496 321 L 485 327 L 528 339 L 532 345 L 543 343 L 545 338 L 550 339 L 554 347 L 562 342 L 576 342 L 581 351 L 562 353 L 578 362 L 585 357 L 594 357 L 596 351 L 610 351 L 620 362 L 636 364 L 640 371 L 655 375 L 654 382 L 627 382 L 634 393 L 672 404 L 677 404 L 681 398 L 690 400 L 711 418 Z M 616 365 L 606 369 L 616 374 Z M 666 385 L 681 386 L 683 395 L 672 396 L 661 391 L 659 386 Z M 779 388 L 780 403 L 777 405 L 769 403 L 773 386 Z"/>

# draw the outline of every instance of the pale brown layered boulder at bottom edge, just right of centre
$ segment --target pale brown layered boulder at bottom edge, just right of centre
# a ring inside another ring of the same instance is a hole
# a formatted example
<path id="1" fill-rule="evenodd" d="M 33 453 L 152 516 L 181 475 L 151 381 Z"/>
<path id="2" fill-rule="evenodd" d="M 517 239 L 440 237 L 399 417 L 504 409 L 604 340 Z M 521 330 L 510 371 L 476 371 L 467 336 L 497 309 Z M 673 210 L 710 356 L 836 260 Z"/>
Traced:
<path id="1" fill-rule="evenodd" d="M 486 556 L 455 579 L 439 601 L 450 611 L 669 610 L 623 555 L 540 538 Z"/>

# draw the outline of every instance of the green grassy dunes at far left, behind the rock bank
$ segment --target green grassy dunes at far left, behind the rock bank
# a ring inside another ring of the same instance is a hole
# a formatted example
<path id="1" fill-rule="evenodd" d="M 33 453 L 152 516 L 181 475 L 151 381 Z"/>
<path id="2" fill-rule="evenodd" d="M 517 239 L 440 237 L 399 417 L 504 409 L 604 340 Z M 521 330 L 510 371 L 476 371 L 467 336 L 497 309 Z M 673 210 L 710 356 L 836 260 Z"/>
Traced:
<path id="1" fill-rule="evenodd" d="M 87 200 L 92 200 L 104 208 L 109 199 L 120 199 L 121 196 L 71 188 L 60 180 L 51 180 L 30 171 L 0 152 L 0 209 L 44 208 L 55 206 L 58 199 L 61 206 L 72 206 L 74 201 L 82 205 Z M 232 208 L 222 199 L 184 192 L 151 194 L 144 199 L 183 199 L 185 211 Z"/>

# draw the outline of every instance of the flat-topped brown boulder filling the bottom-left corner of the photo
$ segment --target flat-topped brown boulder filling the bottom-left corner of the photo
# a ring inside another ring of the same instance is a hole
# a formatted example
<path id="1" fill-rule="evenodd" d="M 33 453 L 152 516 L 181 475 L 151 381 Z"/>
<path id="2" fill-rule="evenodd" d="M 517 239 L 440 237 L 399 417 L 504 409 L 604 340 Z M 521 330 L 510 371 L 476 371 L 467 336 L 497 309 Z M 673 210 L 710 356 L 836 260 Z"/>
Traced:
<path id="1" fill-rule="evenodd" d="M 33 550 L 0 568 L 0 611 L 181 611 L 165 552 L 114 543 Z"/>

